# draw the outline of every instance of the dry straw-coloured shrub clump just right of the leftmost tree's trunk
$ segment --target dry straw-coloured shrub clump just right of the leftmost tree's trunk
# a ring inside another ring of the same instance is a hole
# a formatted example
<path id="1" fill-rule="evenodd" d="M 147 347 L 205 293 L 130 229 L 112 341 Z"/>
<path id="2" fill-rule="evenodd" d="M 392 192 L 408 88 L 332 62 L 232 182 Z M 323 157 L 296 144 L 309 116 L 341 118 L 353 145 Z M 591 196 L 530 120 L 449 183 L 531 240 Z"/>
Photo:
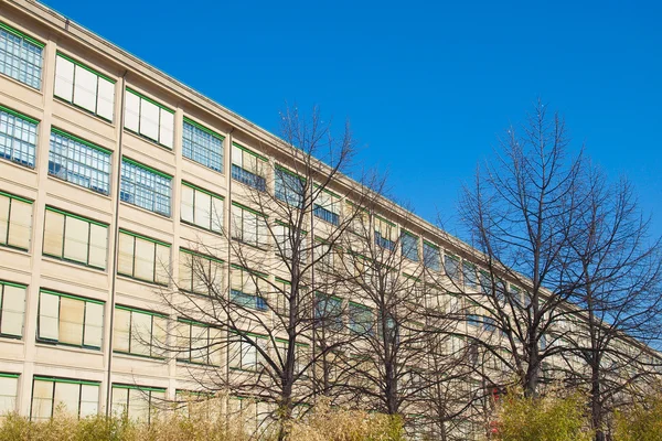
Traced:
<path id="1" fill-rule="evenodd" d="M 290 441 L 401 441 L 402 420 L 362 410 L 331 409 L 327 401 L 301 420 L 293 421 Z"/>

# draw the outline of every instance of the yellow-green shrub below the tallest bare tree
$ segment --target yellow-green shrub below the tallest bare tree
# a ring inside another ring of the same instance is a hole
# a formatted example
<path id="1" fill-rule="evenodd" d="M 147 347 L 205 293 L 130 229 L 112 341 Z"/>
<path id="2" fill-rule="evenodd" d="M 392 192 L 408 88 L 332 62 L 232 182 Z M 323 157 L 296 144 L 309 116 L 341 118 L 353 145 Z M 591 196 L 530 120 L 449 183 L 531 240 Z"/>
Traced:
<path id="1" fill-rule="evenodd" d="M 586 416 L 586 397 L 551 391 L 527 398 L 510 390 L 496 410 L 494 439 L 501 441 L 589 441 L 594 433 Z"/>

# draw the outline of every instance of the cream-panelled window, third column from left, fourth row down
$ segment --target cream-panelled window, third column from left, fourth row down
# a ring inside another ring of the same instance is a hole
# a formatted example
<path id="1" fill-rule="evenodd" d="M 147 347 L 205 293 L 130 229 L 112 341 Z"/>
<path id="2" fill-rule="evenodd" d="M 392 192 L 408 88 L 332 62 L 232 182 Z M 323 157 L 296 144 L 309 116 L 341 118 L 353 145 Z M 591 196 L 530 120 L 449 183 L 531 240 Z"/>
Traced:
<path id="1" fill-rule="evenodd" d="M 150 311 L 115 306 L 113 352 L 163 358 L 168 319 Z"/>

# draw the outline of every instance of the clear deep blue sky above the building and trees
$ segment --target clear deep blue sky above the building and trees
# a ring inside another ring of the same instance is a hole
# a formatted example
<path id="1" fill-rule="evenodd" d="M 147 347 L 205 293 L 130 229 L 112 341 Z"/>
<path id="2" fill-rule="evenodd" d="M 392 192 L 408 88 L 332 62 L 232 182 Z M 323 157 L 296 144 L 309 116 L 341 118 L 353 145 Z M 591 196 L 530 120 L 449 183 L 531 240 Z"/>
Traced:
<path id="1" fill-rule="evenodd" d="M 46 3 L 267 130 L 286 100 L 349 118 L 360 160 L 450 233 L 461 183 L 540 96 L 662 234 L 658 1 Z"/>

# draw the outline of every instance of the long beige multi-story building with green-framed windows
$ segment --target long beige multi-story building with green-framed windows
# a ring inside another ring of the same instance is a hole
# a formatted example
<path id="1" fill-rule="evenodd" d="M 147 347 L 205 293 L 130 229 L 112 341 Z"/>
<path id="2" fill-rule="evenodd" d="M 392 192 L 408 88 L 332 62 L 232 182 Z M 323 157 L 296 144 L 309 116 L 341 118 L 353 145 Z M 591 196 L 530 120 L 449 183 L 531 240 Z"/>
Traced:
<path id="1" fill-rule="evenodd" d="M 275 191 L 276 169 L 259 164 L 280 146 L 49 8 L 0 0 L 0 411 L 138 415 L 146 397 L 185 389 L 188 369 L 149 342 L 166 338 L 154 290 L 178 278 L 188 244 L 218 241 L 231 214 L 245 226 L 227 236 L 259 245 L 242 187 Z M 380 246 L 402 233 L 412 261 L 461 272 L 467 245 L 409 214 L 398 232 L 406 212 L 384 204 Z M 344 206 L 316 216 L 334 224 Z"/>

